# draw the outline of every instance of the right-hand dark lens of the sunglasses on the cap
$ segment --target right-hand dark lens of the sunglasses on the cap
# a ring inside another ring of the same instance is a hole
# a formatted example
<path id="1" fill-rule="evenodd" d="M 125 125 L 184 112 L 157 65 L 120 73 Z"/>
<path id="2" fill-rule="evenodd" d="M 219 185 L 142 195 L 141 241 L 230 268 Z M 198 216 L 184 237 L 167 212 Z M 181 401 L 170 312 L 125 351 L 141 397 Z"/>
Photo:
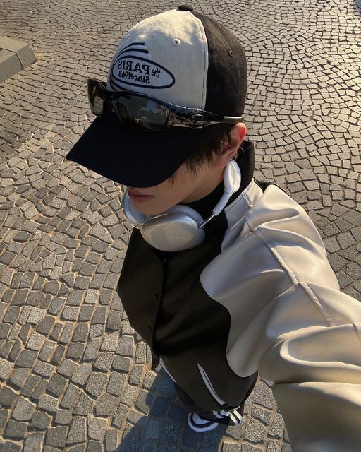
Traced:
<path id="1" fill-rule="evenodd" d="M 124 124 L 143 130 L 162 129 L 169 116 L 169 109 L 159 102 L 131 94 L 119 96 L 116 108 Z"/>

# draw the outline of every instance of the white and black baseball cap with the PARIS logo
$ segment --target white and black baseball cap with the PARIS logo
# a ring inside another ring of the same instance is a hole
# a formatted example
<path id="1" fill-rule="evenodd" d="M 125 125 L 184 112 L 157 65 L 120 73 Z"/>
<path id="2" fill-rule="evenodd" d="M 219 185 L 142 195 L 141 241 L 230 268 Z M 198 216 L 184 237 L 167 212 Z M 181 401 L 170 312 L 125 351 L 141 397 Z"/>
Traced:
<path id="1" fill-rule="evenodd" d="M 111 60 L 106 89 L 240 117 L 247 93 L 245 52 L 224 25 L 181 5 L 126 33 Z M 94 119 L 65 158 L 126 186 L 154 186 L 190 157 L 192 143 L 209 127 L 149 133 L 108 114 Z"/>

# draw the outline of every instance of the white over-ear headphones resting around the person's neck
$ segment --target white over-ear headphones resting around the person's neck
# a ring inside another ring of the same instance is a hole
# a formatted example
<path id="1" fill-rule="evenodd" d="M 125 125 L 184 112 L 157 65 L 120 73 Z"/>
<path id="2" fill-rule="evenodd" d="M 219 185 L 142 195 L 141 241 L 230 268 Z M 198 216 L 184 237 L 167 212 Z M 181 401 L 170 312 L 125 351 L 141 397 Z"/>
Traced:
<path id="1" fill-rule="evenodd" d="M 161 251 L 183 251 L 201 244 L 205 238 L 204 226 L 226 207 L 232 194 L 240 188 L 240 168 L 230 160 L 224 169 L 224 194 L 212 210 L 212 215 L 202 216 L 188 206 L 177 204 L 157 215 L 138 212 L 127 191 L 123 195 L 121 208 L 131 225 L 140 229 L 143 239 Z"/>

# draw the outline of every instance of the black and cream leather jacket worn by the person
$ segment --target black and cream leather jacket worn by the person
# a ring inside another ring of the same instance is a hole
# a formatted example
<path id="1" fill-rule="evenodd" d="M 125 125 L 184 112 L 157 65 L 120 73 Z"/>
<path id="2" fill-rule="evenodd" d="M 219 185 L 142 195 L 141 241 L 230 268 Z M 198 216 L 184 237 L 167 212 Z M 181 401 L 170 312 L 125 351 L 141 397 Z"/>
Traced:
<path id="1" fill-rule="evenodd" d="M 259 371 L 293 452 L 360 451 L 361 304 L 278 186 L 243 178 L 193 249 L 159 252 L 133 230 L 118 295 L 152 368 L 200 408 L 236 406 Z"/>

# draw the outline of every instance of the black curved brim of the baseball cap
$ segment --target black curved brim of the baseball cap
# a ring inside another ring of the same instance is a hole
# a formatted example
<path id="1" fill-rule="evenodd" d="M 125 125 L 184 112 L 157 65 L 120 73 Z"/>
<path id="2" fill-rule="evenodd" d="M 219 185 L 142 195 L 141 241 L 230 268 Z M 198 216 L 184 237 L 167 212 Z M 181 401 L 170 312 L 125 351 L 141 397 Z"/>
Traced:
<path id="1" fill-rule="evenodd" d="M 202 129 L 185 127 L 137 131 L 111 114 L 94 119 L 65 158 L 120 184 L 145 188 L 176 172 L 201 133 Z"/>

